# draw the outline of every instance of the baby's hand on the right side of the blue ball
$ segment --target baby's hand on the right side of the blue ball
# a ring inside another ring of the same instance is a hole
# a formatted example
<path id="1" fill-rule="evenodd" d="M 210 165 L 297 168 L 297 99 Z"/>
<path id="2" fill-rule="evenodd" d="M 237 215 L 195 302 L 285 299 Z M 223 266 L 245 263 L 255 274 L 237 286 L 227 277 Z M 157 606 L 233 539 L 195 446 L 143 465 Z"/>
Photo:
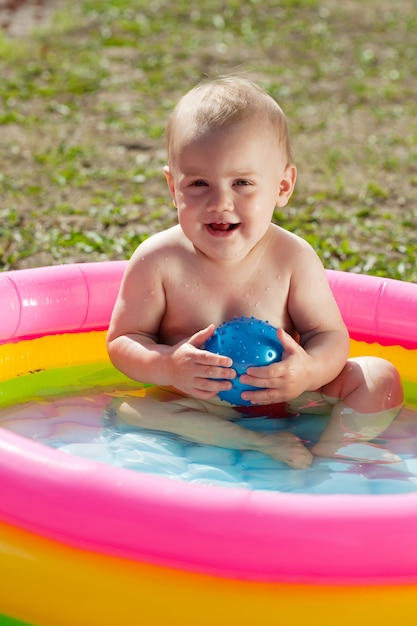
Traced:
<path id="1" fill-rule="evenodd" d="M 282 328 L 277 331 L 277 337 L 284 348 L 282 361 L 260 367 L 248 367 L 246 374 L 240 377 L 240 382 L 261 389 L 244 391 L 243 400 L 259 405 L 288 402 L 308 388 L 308 372 L 313 366 L 312 358 Z"/>

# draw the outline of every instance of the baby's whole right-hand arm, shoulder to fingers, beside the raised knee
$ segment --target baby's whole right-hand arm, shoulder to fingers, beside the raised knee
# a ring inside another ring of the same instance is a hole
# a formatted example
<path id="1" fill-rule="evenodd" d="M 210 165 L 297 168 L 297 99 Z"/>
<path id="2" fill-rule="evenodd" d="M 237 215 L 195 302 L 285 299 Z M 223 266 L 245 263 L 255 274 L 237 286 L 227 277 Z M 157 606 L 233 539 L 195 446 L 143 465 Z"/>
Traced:
<path id="1" fill-rule="evenodd" d="M 279 329 L 282 361 L 249 368 L 241 377 L 242 383 L 263 388 L 242 394 L 254 404 L 287 402 L 304 391 L 319 389 L 336 378 L 348 357 L 348 332 L 320 260 L 305 244 L 296 261 L 287 308 L 300 343 Z"/>

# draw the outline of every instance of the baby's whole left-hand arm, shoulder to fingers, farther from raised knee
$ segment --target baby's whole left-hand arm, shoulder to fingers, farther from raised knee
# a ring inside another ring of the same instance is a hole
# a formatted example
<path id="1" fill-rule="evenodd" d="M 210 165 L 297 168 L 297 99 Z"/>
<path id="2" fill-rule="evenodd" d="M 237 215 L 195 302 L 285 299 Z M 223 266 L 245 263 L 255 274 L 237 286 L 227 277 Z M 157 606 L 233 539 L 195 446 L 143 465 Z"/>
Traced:
<path id="1" fill-rule="evenodd" d="M 196 398 L 214 397 L 231 387 L 232 360 L 199 349 L 214 325 L 175 345 L 159 343 L 167 303 L 158 254 L 148 241 L 133 255 L 122 280 L 107 335 L 110 358 L 133 380 L 173 386 Z"/>

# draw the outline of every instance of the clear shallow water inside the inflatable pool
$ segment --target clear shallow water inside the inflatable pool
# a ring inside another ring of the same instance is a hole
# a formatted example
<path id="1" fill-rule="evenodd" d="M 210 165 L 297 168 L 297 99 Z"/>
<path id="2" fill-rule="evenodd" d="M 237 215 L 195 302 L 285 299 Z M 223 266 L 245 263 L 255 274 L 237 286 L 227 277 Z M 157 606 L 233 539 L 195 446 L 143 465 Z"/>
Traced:
<path id="1" fill-rule="evenodd" d="M 291 469 L 253 451 L 189 443 L 176 435 L 143 430 L 108 417 L 106 393 L 32 402 L 3 409 L 0 427 L 62 452 L 172 480 L 223 487 L 311 494 L 400 494 L 417 491 L 417 410 L 404 408 L 374 440 L 395 463 L 315 458 L 307 470 Z M 317 441 L 328 417 L 246 419 L 261 432 L 293 432 Z M 379 460 L 378 460 L 379 459 Z"/>

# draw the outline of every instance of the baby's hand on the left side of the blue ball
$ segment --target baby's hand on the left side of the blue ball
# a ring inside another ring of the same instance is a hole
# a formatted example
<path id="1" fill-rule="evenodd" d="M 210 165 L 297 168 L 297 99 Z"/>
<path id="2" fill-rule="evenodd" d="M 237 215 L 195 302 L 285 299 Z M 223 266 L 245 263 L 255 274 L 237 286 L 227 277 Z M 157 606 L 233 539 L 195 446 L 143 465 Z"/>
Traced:
<path id="1" fill-rule="evenodd" d="M 236 377 L 231 358 L 200 349 L 214 331 L 214 324 L 210 324 L 190 339 L 172 346 L 169 354 L 171 384 L 201 400 L 230 389 L 232 384 L 229 381 Z"/>

